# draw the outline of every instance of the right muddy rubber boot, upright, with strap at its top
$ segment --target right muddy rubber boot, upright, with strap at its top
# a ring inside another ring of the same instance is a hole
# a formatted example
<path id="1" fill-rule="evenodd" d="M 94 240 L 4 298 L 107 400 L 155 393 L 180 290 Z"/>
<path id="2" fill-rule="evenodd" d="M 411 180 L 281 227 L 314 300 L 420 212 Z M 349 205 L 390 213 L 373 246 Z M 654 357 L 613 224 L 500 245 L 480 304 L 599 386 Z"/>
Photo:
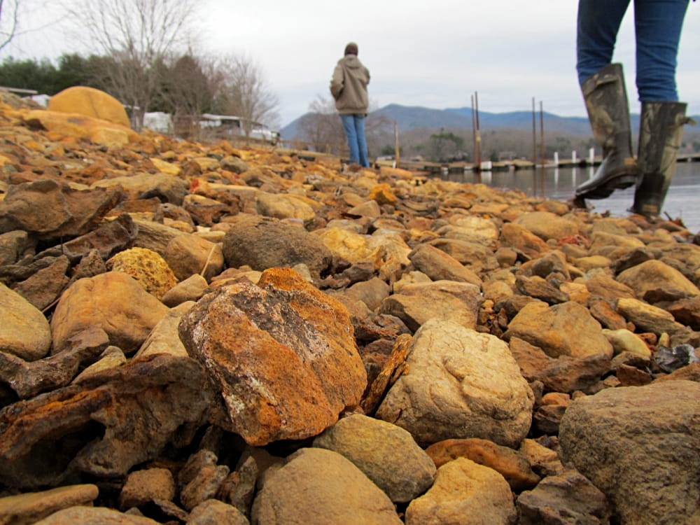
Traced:
<path id="1" fill-rule="evenodd" d="M 694 121 L 685 116 L 684 102 L 643 102 L 639 123 L 640 172 L 632 211 L 657 217 L 675 174 L 675 160 L 683 138 L 683 126 Z"/>

